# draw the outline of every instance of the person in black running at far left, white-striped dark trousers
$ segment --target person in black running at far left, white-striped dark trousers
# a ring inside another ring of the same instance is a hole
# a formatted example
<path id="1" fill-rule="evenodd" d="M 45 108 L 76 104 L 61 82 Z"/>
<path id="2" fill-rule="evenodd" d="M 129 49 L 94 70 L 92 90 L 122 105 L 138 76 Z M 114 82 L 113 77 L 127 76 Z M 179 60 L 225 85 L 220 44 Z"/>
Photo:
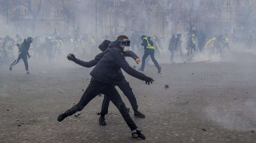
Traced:
<path id="1" fill-rule="evenodd" d="M 21 43 L 21 45 L 17 44 L 17 46 L 19 48 L 19 54 L 18 54 L 17 59 L 10 65 L 10 68 L 9 68 L 10 70 L 12 70 L 12 67 L 14 65 L 16 65 L 22 59 L 25 64 L 25 69 L 26 69 L 27 74 L 30 74 L 28 71 L 27 57 L 28 57 L 28 59 L 31 57 L 28 53 L 28 49 L 32 42 L 33 42 L 33 38 L 27 37 L 27 39 L 24 39 L 24 41 Z"/>

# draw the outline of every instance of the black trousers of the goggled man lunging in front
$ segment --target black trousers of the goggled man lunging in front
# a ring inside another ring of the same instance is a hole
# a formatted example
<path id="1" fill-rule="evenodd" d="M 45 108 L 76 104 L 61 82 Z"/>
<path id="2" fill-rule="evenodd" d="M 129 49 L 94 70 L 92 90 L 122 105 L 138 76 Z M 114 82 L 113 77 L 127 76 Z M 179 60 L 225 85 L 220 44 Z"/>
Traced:
<path id="1" fill-rule="evenodd" d="M 121 96 L 115 89 L 115 86 L 100 83 L 94 78 L 91 79 L 80 101 L 67 110 L 68 115 L 71 116 L 75 112 L 81 111 L 94 97 L 96 97 L 100 93 L 107 96 L 111 100 L 111 102 L 118 108 L 125 122 L 130 127 L 131 131 L 137 129 L 136 124 L 133 122 L 127 108 L 125 107 L 124 102 L 121 99 Z"/>

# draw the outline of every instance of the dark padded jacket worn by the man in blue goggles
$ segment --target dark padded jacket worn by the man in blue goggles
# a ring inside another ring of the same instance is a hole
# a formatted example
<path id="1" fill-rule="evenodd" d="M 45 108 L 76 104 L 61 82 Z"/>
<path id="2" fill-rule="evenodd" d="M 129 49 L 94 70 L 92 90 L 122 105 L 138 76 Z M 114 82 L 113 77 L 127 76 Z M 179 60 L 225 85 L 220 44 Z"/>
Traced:
<path id="1" fill-rule="evenodd" d="M 124 51 L 117 41 L 111 42 L 104 53 L 102 59 L 93 68 L 90 75 L 97 81 L 104 84 L 113 84 L 120 74 L 122 68 L 129 75 L 136 77 L 140 80 L 145 79 L 145 75 L 130 67 L 125 60 Z"/>

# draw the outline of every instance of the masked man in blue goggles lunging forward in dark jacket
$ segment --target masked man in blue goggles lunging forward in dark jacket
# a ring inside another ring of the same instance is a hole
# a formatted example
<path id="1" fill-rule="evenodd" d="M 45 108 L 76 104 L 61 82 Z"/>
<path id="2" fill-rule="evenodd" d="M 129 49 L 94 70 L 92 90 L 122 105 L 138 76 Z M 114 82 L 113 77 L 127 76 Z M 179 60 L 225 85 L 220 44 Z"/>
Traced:
<path id="1" fill-rule="evenodd" d="M 154 81 L 150 77 L 147 77 L 129 66 L 124 57 L 125 52 L 129 50 L 129 46 L 129 38 L 122 35 L 118 36 L 116 41 L 111 42 L 108 45 L 104 56 L 91 71 L 91 81 L 80 101 L 64 113 L 60 114 L 58 116 L 59 122 L 63 121 L 67 116 L 71 116 L 75 112 L 81 111 L 94 97 L 102 93 L 108 96 L 112 103 L 118 108 L 125 122 L 130 127 L 132 136 L 137 137 L 138 139 L 145 139 L 145 136 L 141 131 L 137 130 L 138 127 L 130 117 L 121 96 L 114 86 L 114 82 L 116 82 L 116 76 L 118 75 L 120 68 L 131 76 L 146 81 L 146 84 L 150 84 Z M 72 54 L 69 54 L 67 58 L 72 60 L 74 57 Z"/>

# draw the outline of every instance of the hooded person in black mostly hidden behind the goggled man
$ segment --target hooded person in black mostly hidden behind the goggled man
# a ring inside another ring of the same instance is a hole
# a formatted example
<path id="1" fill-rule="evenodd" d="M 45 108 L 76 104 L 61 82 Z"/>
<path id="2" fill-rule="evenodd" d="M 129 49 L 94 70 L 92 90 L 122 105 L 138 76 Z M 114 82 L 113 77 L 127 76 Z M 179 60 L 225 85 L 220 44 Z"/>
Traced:
<path id="1" fill-rule="evenodd" d="M 84 66 L 84 67 L 93 67 L 95 66 L 105 55 L 105 51 L 107 50 L 107 47 L 111 43 L 109 40 L 104 40 L 102 44 L 99 45 L 99 49 L 103 51 L 102 53 L 98 54 L 94 60 L 91 60 L 89 62 L 82 61 L 79 59 L 76 59 L 74 55 L 72 55 L 72 61 L 75 63 Z M 141 60 L 139 57 L 132 51 L 127 51 L 124 53 L 125 57 L 132 57 L 137 63 L 139 63 Z M 132 88 L 130 87 L 129 83 L 125 80 L 125 77 L 122 73 L 122 70 L 118 70 L 117 76 L 116 76 L 116 82 L 114 82 L 115 86 L 118 86 L 124 93 L 124 95 L 128 98 L 128 100 L 131 103 L 131 106 L 134 110 L 134 116 L 138 118 L 145 118 L 145 115 L 138 111 L 138 105 L 135 98 L 135 95 L 132 92 Z M 109 106 L 110 98 L 107 96 L 104 96 L 104 100 L 102 102 L 102 109 L 101 109 L 101 117 L 99 119 L 100 125 L 106 125 L 105 122 L 105 114 L 108 112 L 108 106 Z"/>

